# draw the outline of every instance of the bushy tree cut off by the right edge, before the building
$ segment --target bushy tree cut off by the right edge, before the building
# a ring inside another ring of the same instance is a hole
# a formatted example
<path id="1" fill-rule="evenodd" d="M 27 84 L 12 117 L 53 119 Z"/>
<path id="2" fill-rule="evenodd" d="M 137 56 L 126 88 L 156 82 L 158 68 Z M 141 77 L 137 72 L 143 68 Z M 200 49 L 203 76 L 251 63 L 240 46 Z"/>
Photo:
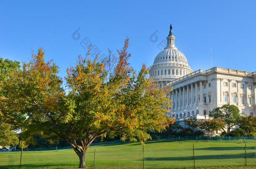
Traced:
<path id="1" fill-rule="evenodd" d="M 243 136 L 256 136 L 256 117 L 242 116 L 238 126 L 242 130 Z"/>

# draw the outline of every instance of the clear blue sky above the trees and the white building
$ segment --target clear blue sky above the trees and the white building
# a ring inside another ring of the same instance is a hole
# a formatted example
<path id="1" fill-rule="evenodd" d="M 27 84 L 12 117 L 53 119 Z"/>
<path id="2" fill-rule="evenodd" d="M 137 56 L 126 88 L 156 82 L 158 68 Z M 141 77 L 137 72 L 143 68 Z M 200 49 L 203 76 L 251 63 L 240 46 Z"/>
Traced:
<path id="1" fill-rule="evenodd" d="M 255 0 L 1 0 L 0 57 L 27 61 L 31 48 L 43 47 L 64 77 L 85 55 L 82 45 L 92 43 L 107 55 L 107 48 L 122 48 L 128 36 L 130 63 L 139 70 L 142 63 L 153 64 L 170 23 L 193 71 L 211 68 L 211 47 L 213 67 L 256 71 Z"/>

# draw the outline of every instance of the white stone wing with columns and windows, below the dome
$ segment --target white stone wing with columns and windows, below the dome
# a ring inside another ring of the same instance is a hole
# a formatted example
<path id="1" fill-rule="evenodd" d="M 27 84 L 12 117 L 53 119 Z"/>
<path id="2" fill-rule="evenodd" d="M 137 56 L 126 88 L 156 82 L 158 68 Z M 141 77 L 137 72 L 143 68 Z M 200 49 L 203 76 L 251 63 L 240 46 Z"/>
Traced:
<path id="1" fill-rule="evenodd" d="M 208 119 L 212 109 L 226 103 L 256 116 L 256 72 L 214 67 L 198 70 L 167 84 L 172 116 L 183 124 L 186 117 Z"/>

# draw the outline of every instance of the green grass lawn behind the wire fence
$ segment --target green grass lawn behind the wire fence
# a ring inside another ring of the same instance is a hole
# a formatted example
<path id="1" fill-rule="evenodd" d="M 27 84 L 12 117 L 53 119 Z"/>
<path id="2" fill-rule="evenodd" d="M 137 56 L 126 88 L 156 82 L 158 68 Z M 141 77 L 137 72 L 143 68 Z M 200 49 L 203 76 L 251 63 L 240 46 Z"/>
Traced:
<path id="1" fill-rule="evenodd" d="M 194 142 L 195 165 L 202 167 L 244 166 L 243 142 Z M 256 143 L 246 143 L 247 166 L 256 166 Z M 143 154 L 140 143 L 116 142 L 90 146 L 86 165 L 95 168 L 142 168 Z M 21 152 L 1 152 L 0 168 L 19 168 Z M 77 168 L 78 156 L 73 149 L 24 151 L 23 168 Z M 144 146 L 145 168 L 193 168 L 193 142 L 170 140 L 148 141 Z"/>

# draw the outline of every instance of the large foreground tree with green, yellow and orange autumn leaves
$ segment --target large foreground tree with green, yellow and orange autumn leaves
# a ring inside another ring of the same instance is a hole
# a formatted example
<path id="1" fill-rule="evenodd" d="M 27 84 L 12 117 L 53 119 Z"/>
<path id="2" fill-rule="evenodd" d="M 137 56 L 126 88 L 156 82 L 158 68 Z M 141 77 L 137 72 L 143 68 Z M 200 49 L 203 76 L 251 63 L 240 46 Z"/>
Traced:
<path id="1" fill-rule="evenodd" d="M 149 130 L 161 131 L 174 120 L 166 115 L 170 101 L 167 88 L 157 88 L 149 69 L 136 73 L 128 63 L 128 39 L 118 56 L 99 60 L 79 56 L 67 69 L 65 90 L 57 76 L 59 68 L 44 61 L 42 48 L 23 63 L 20 71 L 10 74 L 1 85 L 4 99 L 0 110 L 10 116 L 32 141 L 34 134 L 54 141 L 67 141 L 85 167 L 86 150 L 95 138 L 119 135 L 123 141 L 151 139 Z"/>

